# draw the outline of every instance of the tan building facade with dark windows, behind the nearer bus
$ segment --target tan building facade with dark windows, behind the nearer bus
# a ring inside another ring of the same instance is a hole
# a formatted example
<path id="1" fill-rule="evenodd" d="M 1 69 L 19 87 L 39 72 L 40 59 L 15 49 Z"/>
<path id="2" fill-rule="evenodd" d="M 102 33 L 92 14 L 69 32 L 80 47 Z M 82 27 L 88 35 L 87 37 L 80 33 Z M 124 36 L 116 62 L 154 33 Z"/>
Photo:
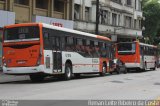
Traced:
<path id="1" fill-rule="evenodd" d="M 43 22 L 44 17 L 72 20 L 72 3 L 72 0 L 0 0 L 0 10 L 13 12 L 15 15 L 10 19 L 15 20 L 15 23 L 37 22 L 35 19 Z"/>

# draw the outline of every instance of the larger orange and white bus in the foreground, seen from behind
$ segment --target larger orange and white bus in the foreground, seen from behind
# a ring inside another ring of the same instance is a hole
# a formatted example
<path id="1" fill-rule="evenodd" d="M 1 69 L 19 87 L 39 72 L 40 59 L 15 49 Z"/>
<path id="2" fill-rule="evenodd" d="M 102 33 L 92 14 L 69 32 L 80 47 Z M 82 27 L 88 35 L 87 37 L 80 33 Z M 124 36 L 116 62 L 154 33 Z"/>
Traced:
<path id="1" fill-rule="evenodd" d="M 27 74 L 32 81 L 112 71 L 109 38 L 43 23 L 5 26 L 3 50 L 3 72 Z"/>

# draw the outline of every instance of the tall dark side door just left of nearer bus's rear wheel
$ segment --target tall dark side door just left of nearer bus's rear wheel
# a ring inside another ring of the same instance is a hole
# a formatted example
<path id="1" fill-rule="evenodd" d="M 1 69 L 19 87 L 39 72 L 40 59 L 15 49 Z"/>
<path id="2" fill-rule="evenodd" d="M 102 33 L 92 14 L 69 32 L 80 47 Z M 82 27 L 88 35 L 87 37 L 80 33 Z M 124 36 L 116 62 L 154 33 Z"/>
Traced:
<path id="1" fill-rule="evenodd" d="M 60 37 L 53 38 L 53 73 L 62 72 L 62 52 L 61 52 L 61 39 Z"/>

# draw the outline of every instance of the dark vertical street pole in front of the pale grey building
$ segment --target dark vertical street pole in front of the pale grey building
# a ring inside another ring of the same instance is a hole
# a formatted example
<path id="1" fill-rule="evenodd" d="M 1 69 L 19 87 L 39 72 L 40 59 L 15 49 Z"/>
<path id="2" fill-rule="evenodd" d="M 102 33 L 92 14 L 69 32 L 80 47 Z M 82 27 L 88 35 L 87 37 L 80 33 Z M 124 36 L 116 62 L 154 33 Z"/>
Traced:
<path id="1" fill-rule="evenodd" d="M 96 30 L 95 34 L 99 34 L 99 0 L 96 2 Z"/>

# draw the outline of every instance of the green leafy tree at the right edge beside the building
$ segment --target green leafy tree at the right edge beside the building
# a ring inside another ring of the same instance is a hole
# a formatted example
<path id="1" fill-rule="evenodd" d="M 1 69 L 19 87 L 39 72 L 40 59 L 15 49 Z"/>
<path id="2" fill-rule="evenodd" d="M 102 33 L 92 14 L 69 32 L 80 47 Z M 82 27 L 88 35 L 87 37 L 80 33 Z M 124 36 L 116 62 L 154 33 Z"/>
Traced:
<path id="1" fill-rule="evenodd" d="M 157 41 L 157 35 L 160 30 L 160 3 L 159 0 L 143 0 L 143 11 L 145 22 L 144 37 L 149 37 L 150 43 Z M 158 37 L 159 38 L 159 37 Z"/>

